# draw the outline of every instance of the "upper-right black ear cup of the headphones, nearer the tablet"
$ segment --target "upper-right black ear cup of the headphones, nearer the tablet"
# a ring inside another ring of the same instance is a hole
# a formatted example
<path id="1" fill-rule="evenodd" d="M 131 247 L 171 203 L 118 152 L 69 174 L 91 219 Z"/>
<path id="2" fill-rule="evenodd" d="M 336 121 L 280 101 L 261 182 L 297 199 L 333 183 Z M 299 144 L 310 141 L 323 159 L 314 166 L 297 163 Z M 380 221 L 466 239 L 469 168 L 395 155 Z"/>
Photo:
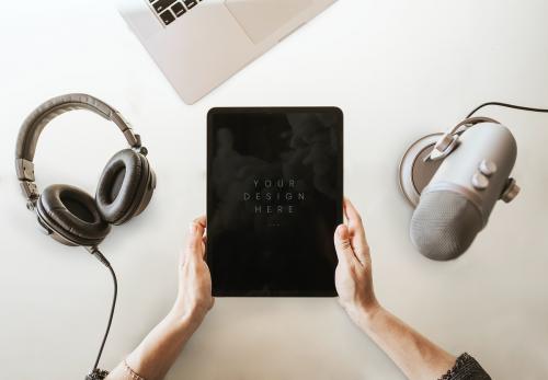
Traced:
<path id="1" fill-rule="evenodd" d="M 142 209 L 148 196 L 147 184 L 152 175 L 148 160 L 132 149 L 114 154 L 99 180 L 95 201 L 104 220 L 122 224 Z"/>

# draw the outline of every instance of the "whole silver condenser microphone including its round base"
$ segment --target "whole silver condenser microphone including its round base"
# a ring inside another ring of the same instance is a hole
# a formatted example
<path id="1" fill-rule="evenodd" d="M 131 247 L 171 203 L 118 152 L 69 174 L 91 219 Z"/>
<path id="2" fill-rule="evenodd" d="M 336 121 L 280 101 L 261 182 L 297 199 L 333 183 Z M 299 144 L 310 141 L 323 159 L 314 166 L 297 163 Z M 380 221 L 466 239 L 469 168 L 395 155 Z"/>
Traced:
<path id="1" fill-rule="evenodd" d="M 511 131 L 490 118 L 467 119 L 411 146 L 400 184 L 415 207 L 410 226 L 415 247 L 436 261 L 466 252 L 495 203 L 517 195 L 520 187 L 510 179 L 516 156 Z"/>

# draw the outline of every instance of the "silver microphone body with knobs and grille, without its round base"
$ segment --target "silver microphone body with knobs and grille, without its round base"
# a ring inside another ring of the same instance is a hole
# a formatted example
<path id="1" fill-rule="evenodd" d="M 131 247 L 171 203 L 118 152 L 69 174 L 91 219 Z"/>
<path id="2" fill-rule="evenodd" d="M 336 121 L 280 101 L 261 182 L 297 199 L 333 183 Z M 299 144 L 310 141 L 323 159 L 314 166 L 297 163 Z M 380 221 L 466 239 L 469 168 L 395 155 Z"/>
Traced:
<path id="1" fill-rule="evenodd" d="M 509 179 L 516 157 L 516 141 L 500 124 L 481 123 L 458 136 L 413 212 L 410 233 L 415 247 L 436 261 L 466 252 L 495 203 L 516 195 L 518 187 Z"/>

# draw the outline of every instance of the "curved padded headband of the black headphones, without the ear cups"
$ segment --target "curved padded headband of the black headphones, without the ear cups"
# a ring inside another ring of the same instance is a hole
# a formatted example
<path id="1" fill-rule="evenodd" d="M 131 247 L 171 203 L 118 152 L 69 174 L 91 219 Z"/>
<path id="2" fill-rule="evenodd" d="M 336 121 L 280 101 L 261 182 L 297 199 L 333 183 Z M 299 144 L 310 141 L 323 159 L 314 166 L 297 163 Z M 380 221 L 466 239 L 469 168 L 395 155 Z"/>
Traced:
<path id="1" fill-rule="evenodd" d="M 132 148 L 140 148 L 139 135 L 134 134 L 129 123 L 109 104 L 88 94 L 67 94 L 44 102 L 24 120 L 18 136 L 15 148 L 15 171 L 23 193 L 28 199 L 38 196 L 34 183 L 34 153 L 39 135 L 54 118 L 72 110 L 88 110 L 103 118 L 114 122 L 124 134 Z"/>

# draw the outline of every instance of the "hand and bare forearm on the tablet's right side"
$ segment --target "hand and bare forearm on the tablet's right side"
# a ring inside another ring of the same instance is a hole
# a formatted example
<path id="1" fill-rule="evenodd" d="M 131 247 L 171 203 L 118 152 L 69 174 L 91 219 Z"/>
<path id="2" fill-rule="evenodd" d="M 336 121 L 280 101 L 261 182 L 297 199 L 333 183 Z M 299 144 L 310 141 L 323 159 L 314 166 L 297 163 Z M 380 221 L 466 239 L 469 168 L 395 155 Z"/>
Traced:
<path id="1" fill-rule="evenodd" d="M 409 379 L 437 379 L 447 373 L 456 358 L 379 306 L 373 289 L 372 257 L 364 224 L 347 199 L 344 215 L 346 224 L 339 226 L 334 235 L 339 257 L 335 285 L 342 307 Z M 490 379 L 477 362 L 471 366 L 478 371 L 475 372 L 478 379 Z"/>

